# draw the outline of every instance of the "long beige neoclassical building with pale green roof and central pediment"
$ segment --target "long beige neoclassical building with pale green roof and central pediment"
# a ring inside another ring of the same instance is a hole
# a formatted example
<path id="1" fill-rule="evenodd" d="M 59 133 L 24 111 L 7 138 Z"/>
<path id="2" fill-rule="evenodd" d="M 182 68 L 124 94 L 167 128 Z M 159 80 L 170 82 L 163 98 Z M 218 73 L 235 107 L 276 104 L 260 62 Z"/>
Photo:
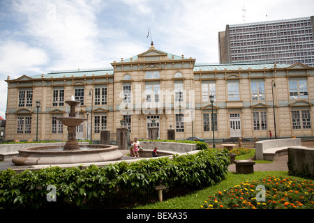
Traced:
<path id="1" fill-rule="evenodd" d="M 197 65 L 195 59 L 157 50 L 153 44 L 111 65 L 8 77 L 6 139 L 65 140 L 67 130 L 57 117 L 68 115 L 65 101 L 72 95 L 82 102 L 77 115 L 88 118 L 77 128 L 80 139 L 99 140 L 101 130 L 110 130 L 114 141 L 120 120 L 131 138 L 147 138 L 152 119 L 160 139 L 167 139 L 170 128 L 176 130 L 176 139 L 193 135 L 207 141 L 213 139 L 213 130 L 215 139 L 267 138 L 269 130 L 277 137 L 313 137 L 313 67 Z"/>

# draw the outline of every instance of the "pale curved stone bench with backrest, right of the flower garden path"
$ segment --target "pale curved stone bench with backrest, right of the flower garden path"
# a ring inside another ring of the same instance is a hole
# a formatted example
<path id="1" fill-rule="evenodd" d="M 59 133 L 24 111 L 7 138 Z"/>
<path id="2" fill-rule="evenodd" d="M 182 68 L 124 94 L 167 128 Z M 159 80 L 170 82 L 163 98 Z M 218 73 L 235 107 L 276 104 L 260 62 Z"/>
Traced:
<path id="1" fill-rule="evenodd" d="M 287 155 L 290 146 L 301 146 L 301 139 L 271 139 L 255 143 L 255 160 L 273 161 L 275 157 Z"/>

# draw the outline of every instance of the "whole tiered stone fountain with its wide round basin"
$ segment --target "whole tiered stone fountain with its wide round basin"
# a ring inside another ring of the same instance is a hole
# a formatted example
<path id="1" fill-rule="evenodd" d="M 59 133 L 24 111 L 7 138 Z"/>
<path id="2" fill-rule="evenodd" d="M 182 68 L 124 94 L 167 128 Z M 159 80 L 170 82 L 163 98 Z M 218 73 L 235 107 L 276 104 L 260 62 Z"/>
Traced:
<path id="1" fill-rule="evenodd" d="M 96 162 L 106 162 L 120 160 L 123 154 L 119 151 L 118 146 L 111 145 L 84 145 L 81 146 L 76 141 L 76 127 L 87 118 L 77 117 L 75 107 L 80 101 L 75 101 L 72 96 L 71 100 L 66 101 L 70 105 L 68 117 L 57 118 L 63 125 L 68 127 L 68 140 L 63 148 L 60 146 L 38 146 L 20 149 L 17 155 L 13 157 L 12 162 L 16 166 L 22 165 L 47 165 L 47 164 L 81 164 Z"/>

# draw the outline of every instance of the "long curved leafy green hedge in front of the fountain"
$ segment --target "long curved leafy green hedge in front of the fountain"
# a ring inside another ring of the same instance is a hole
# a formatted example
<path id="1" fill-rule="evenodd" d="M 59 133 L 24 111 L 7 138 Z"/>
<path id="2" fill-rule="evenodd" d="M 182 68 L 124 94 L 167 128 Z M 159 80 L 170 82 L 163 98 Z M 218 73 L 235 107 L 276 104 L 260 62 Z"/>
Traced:
<path id="1" fill-rule="evenodd" d="M 220 182 L 230 164 L 227 151 L 208 149 L 195 155 L 119 162 L 106 167 L 51 167 L 16 174 L 0 171 L 0 208 L 91 208 L 110 207 L 111 202 L 134 202 L 143 195 L 178 188 L 197 190 Z M 57 201 L 48 202 L 48 185 L 54 185 Z M 144 196 L 145 197 L 145 196 Z"/>

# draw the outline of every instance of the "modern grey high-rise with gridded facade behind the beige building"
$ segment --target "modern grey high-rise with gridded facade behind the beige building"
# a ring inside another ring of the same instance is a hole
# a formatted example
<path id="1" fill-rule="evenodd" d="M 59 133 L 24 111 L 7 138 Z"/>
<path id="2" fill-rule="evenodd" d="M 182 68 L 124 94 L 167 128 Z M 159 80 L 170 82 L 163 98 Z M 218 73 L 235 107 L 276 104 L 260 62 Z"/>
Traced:
<path id="1" fill-rule="evenodd" d="M 227 25 L 218 33 L 220 63 L 273 61 L 314 66 L 314 16 Z"/>

